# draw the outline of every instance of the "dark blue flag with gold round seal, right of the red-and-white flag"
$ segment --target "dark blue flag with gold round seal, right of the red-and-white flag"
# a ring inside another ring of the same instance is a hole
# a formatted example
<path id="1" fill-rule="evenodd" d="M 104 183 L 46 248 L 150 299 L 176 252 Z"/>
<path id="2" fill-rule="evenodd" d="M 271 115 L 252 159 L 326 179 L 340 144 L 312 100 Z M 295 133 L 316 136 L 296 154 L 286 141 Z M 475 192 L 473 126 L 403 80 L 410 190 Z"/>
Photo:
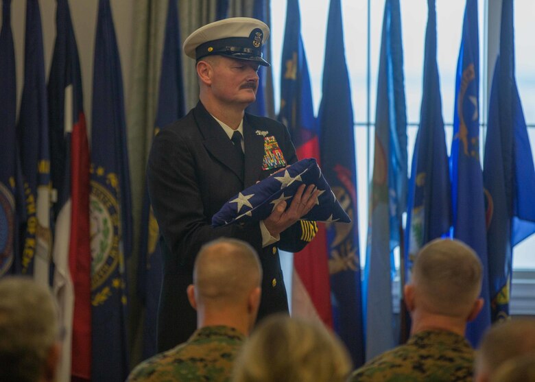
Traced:
<path id="1" fill-rule="evenodd" d="M 91 303 L 94 381 L 124 381 L 125 259 L 132 248 L 132 201 L 123 80 L 109 0 L 99 0 L 91 130 Z"/>

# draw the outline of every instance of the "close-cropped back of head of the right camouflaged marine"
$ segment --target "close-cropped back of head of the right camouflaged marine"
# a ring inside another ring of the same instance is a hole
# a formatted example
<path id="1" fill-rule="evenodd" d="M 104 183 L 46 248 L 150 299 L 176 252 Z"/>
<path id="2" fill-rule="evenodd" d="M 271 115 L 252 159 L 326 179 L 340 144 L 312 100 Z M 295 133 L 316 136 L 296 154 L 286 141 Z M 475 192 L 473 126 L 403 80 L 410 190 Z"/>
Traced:
<path id="1" fill-rule="evenodd" d="M 481 261 L 455 239 L 436 239 L 424 246 L 412 272 L 415 295 L 429 313 L 464 317 L 482 287 Z"/>

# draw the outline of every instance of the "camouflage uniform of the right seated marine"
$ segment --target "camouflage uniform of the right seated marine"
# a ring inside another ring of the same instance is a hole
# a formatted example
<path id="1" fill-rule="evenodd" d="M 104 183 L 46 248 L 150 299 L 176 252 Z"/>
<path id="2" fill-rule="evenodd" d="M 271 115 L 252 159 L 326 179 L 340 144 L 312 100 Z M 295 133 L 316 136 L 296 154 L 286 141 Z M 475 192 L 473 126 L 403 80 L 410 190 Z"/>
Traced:
<path id="1" fill-rule="evenodd" d="M 473 381 L 474 357 L 461 335 L 422 331 L 355 370 L 351 381 Z"/>

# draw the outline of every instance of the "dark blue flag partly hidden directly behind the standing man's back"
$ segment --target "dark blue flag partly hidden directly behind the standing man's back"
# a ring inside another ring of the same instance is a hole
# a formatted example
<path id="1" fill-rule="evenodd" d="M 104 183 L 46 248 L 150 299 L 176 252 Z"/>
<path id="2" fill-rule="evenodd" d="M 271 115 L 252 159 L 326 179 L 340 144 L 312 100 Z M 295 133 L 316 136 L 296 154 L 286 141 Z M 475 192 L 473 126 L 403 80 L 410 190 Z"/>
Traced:
<path id="1" fill-rule="evenodd" d="M 154 135 L 160 128 L 185 115 L 182 57 L 180 49 L 177 0 L 169 0 L 160 72 L 160 91 Z M 156 322 L 162 283 L 162 254 L 158 239 L 160 230 L 152 213 L 149 194 L 145 187 L 141 217 L 139 246 L 138 294 L 145 305 L 143 324 L 143 359 L 156 354 Z"/>

